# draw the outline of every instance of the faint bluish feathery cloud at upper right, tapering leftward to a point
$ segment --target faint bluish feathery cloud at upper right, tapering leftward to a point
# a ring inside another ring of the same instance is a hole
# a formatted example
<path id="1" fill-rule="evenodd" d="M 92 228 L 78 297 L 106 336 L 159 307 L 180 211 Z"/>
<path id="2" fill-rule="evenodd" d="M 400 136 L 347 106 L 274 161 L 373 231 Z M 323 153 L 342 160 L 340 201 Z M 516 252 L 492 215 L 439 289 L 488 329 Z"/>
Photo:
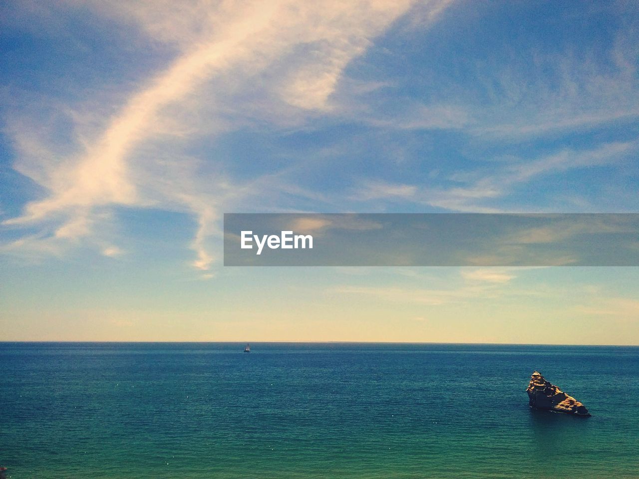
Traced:
<path id="1" fill-rule="evenodd" d="M 490 57 L 474 63 L 473 57 L 464 75 L 436 84 L 424 95 L 428 100 L 394 98 L 398 104 L 369 111 L 367 121 L 403 130 L 463 130 L 501 142 L 627 125 L 639 118 L 634 13 L 629 4 L 611 4 L 609 14 L 624 21 L 611 22 L 617 27 L 612 40 L 597 48 L 569 43 L 540 49 L 530 34 L 516 55 L 504 45 Z"/>

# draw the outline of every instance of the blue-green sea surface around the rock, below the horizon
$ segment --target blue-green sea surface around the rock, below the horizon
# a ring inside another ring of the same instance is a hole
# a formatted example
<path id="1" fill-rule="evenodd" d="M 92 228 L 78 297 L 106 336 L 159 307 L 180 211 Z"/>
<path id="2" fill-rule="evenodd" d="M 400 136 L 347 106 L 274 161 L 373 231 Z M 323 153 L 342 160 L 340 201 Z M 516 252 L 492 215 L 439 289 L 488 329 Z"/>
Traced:
<path id="1" fill-rule="evenodd" d="M 10 478 L 639 478 L 639 347 L 0 343 Z M 534 411 L 539 370 L 591 418 Z"/>

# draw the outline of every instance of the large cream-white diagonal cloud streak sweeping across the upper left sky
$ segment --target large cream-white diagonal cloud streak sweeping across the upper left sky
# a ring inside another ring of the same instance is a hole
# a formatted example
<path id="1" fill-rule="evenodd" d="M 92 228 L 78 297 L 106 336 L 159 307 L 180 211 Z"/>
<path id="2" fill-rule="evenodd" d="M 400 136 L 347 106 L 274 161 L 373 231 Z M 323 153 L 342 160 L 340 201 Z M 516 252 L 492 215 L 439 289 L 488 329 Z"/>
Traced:
<path id="1" fill-rule="evenodd" d="M 429 8 L 435 15 L 448 3 L 430 2 Z M 68 1 L 51 8 L 65 13 L 76 4 Z M 197 218 L 190 245 L 196 253 L 193 266 L 208 270 L 215 257 L 207 239 L 219 234 L 220 208 L 259 192 L 249 192 L 230 178 L 201 176 L 202 165 L 193 165 L 185 155 L 189 139 L 215 134 L 219 131 L 215 128 L 236 128 L 246 123 L 247 116 L 286 123 L 286 118 L 300 118 L 303 112 L 330 112 L 330 97 L 346 65 L 412 2 L 90 1 L 88 5 L 98 17 L 137 26 L 134 45 L 143 45 L 140 35 L 146 35 L 170 45 L 176 55 L 166 68 L 142 76 L 119 105 L 65 107 L 53 102 L 56 115 L 65 110 L 66 121 L 77 127 L 67 129 L 75 131 L 72 147 L 58 148 L 55 122 L 49 137 L 36 140 L 35 118 L 10 119 L 19 154 L 15 168 L 42 186 L 45 194 L 4 224 L 41 225 L 43 231 L 48 228 L 43 225 L 53 225 L 50 235 L 42 238 L 47 242 L 100 243 L 97 225 L 105 218 L 96 211 L 101 209 L 183 211 Z M 96 88 L 93 102 L 116 101 Z M 33 103 L 24 110 L 29 109 L 41 115 Z M 167 151 L 171 158 L 166 158 Z M 12 248 L 22 244 L 13 243 Z"/>

